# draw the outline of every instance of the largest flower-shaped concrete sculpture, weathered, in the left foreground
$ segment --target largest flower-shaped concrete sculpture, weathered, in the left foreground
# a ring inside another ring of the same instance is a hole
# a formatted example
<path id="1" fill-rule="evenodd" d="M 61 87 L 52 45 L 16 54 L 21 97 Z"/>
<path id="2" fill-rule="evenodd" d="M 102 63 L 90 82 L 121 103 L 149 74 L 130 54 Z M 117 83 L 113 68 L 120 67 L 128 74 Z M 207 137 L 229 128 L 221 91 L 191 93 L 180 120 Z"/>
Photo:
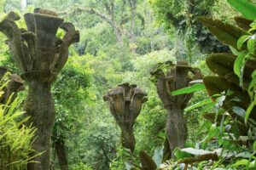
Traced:
<path id="1" fill-rule="evenodd" d="M 11 12 L 0 23 L 0 31 L 8 37 L 10 52 L 29 86 L 25 110 L 31 116 L 32 125 L 37 127 L 33 149 L 45 151 L 35 159 L 40 163 L 32 163 L 28 169 L 49 170 L 49 141 L 55 121 L 51 83 L 67 62 L 68 47 L 79 42 L 79 31 L 72 23 L 63 23 L 54 12 L 41 8 L 25 14 L 24 18 L 27 30 L 18 28 L 15 20 L 20 20 L 20 16 Z M 62 39 L 56 37 L 59 28 L 66 31 Z"/>

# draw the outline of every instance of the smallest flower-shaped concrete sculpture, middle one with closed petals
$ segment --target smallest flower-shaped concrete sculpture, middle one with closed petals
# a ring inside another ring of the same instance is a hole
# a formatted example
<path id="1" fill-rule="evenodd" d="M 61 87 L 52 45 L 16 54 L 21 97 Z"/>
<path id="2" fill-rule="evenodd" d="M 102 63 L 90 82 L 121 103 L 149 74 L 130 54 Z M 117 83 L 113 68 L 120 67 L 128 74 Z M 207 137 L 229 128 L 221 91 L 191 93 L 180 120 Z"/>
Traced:
<path id="1" fill-rule="evenodd" d="M 108 101 L 110 112 L 121 128 L 123 146 L 131 151 L 134 151 L 136 144 L 133 125 L 143 103 L 147 101 L 146 96 L 137 85 L 124 83 L 103 97 L 104 101 Z"/>

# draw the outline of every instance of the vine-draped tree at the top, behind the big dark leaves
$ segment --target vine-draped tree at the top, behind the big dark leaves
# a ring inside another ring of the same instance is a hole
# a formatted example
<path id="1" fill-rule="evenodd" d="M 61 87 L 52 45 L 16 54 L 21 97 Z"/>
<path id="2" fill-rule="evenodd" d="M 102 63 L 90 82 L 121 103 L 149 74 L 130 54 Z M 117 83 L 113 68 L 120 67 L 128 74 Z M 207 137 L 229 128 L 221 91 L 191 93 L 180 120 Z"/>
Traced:
<path id="1" fill-rule="evenodd" d="M 155 0 L 150 1 L 154 15 L 160 25 L 163 25 L 169 35 L 176 35 L 183 39 L 186 55 L 189 62 L 195 61 L 195 52 L 199 46 L 201 52 L 211 53 L 230 51 L 229 48 L 218 42 L 209 31 L 201 26 L 197 17 L 211 15 L 212 6 L 217 0 Z M 194 57 L 194 59 L 192 59 Z"/>

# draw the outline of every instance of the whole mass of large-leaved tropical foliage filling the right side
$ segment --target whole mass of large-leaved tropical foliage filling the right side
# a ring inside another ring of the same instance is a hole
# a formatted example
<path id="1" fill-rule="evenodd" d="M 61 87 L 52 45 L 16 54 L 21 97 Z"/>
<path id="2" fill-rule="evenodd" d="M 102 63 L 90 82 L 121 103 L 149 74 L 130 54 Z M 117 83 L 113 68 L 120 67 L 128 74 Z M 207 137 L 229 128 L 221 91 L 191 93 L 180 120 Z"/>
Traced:
<path id="1" fill-rule="evenodd" d="M 218 76 L 203 77 L 204 85 L 210 99 L 201 101 L 198 104 L 189 106 L 186 111 L 195 109 L 201 105 L 207 105 L 202 111 L 208 112 L 203 116 L 212 122 L 207 137 L 200 144 L 194 146 L 195 149 L 186 148 L 177 150 L 176 156 L 185 163 L 185 169 L 197 167 L 243 167 L 253 169 L 254 147 L 250 150 L 244 148 L 245 145 L 253 146 L 253 135 L 255 127 L 255 46 L 253 20 L 255 19 L 253 4 L 246 1 L 229 1 L 241 13 L 247 17 L 236 17 L 239 27 L 223 23 L 220 20 L 212 20 L 208 17 L 200 17 L 201 23 L 206 26 L 220 42 L 229 45 L 234 54 L 212 54 L 207 57 L 207 66 Z M 254 18 L 253 18 L 254 17 Z M 245 44 L 246 43 L 246 44 Z M 194 88 L 196 90 L 196 88 Z M 191 89 L 190 89 L 191 90 Z M 180 92 L 189 93 L 189 89 Z M 212 103 L 212 101 L 214 103 Z M 239 144 L 243 141 L 241 136 L 247 135 L 247 144 Z M 212 147 L 217 144 L 217 147 Z M 215 150 L 214 150 L 215 149 Z M 217 150 L 216 150 L 217 149 Z M 213 150 L 213 151 L 211 151 Z M 230 153 L 236 153 L 236 156 Z M 188 155 L 184 155 L 190 154 Z M 214 155 L 215 154 L 215 155 Z M 192 155 L 192 156 L 191 156 Z M 206 162 L 215 160 L 211 167 Z M 230 163 L 225 165 L 225 161 Z M 170 166 L 169 166 L 170 167 Z"/>

